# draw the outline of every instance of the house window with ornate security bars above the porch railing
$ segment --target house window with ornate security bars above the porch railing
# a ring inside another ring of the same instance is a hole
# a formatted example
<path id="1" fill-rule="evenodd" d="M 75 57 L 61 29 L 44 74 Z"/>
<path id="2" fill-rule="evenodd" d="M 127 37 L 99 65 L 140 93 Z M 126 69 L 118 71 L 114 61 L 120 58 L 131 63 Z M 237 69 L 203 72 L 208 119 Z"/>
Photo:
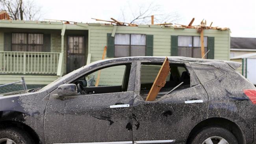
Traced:
<path id="1" fill-rule="evenodd" d="M 11 50 L 22 52 L 43 52 L 43 34 L 12 33 Z"/>

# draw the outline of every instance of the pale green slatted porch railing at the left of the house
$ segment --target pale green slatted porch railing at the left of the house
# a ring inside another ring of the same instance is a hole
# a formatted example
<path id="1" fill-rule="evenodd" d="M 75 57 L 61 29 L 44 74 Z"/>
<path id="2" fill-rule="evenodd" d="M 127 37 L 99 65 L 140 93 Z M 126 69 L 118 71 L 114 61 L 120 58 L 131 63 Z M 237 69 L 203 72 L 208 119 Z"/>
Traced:
<path id="1" fill-rule="evenodd" d="M 57 74 L 63 54 L 56 52 L 1 52 L 0 74 Z"/>

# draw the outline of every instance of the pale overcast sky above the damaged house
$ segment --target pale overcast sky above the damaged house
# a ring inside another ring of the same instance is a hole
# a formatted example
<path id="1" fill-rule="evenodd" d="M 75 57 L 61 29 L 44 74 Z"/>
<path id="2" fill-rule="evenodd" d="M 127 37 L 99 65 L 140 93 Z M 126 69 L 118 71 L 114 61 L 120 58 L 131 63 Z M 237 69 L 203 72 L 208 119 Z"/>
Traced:
<path id="1" fill-rule="evenodd" d="M 121 18 L 121 9 L 126 17 L 132 17 L 130 9 L 151 2 L 160 6 L 158 13 L 178 13 L 176 23 L 200 24 L 202 19 L 212 26 L 228 27 L 232 37 L 256 37 L 256 0 L 37 0 L 42 6 L 45 19 L 96 22 L 91 18 L 110 20 Z M 126 19 L 129 19 L 126 18 Z"/>

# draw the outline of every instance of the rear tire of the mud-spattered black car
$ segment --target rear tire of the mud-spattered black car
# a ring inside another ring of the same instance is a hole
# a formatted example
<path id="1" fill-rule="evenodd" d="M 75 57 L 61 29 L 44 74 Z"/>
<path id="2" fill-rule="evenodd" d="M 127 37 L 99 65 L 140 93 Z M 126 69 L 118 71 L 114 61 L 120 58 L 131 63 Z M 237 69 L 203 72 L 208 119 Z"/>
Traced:
<path id="1" fill-rule="evenodd" d="M 199 131 L 190 144 L 206 144 L 206 141 L 212 141 L 213 144 L 218 144 L 224 139 L 228 144 L 238 144 L 236 137 L 227 129 L 222 127 L 208 127 Z M 224 141 L 223 140 L 223 141 Z"/>

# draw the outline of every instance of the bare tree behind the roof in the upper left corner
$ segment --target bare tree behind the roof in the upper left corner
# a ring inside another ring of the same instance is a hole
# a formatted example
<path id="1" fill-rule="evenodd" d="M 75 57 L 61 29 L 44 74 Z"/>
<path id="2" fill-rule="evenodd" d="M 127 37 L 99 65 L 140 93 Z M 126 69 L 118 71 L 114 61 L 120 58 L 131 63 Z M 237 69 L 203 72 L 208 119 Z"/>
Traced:
<path id="1" fill-rule="evenodd" d="M 7 11 L 14 20 L 39 20 L 42 16 L 34 0 L 0 0 L 0 11 Z"/>

